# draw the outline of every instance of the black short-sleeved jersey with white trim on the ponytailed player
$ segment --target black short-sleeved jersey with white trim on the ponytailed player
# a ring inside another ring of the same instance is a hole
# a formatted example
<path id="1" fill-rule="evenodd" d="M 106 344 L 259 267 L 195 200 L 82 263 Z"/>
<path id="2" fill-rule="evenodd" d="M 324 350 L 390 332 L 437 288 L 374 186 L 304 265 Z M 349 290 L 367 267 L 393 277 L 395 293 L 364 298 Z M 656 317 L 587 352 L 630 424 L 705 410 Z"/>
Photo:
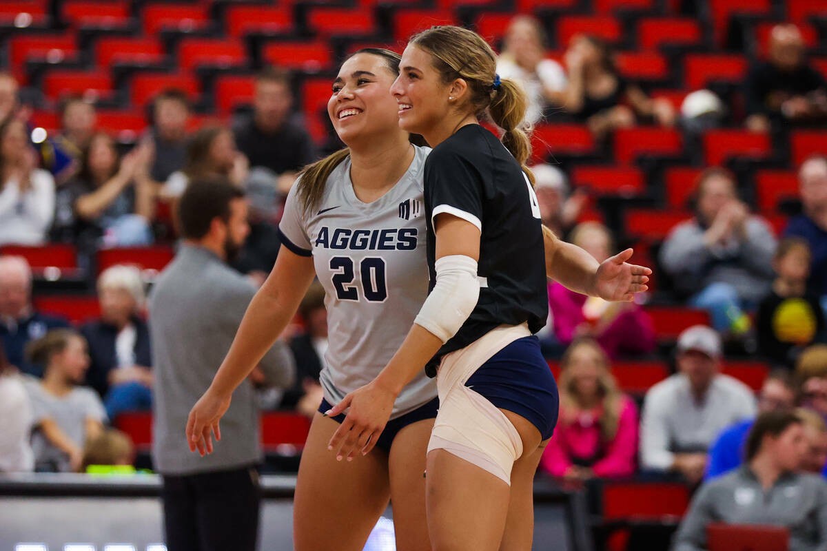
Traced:
<path id="1" fill-rule="evenodd" d="M 436 283 L 434 216 L 452 214 L 480 228 L 480 299 L 437 358 L 465 348 L 498 325 L 546 323 L 548 292 L 540 209 L 531 184 L 500 140 L 462 126 L 437 145 L 424 169 L 430 288 Z M 434 374 L 433 362 L 429 374 Z"/>

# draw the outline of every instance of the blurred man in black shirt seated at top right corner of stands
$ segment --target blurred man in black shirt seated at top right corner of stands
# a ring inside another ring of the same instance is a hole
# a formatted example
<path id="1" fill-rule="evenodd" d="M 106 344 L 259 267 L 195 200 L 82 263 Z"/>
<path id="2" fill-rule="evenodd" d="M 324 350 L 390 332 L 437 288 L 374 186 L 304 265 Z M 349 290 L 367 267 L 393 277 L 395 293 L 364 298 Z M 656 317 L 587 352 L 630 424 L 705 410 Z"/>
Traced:
<path id="1" fill-rule="evenodd" d="M 789 23 L 772 27 L 769 59 L 749 73 L 747 128 L 766 132 L 772 124 L 823 121 L 827 117 L 827 83 L 807 64 L 804 37 Z"/>

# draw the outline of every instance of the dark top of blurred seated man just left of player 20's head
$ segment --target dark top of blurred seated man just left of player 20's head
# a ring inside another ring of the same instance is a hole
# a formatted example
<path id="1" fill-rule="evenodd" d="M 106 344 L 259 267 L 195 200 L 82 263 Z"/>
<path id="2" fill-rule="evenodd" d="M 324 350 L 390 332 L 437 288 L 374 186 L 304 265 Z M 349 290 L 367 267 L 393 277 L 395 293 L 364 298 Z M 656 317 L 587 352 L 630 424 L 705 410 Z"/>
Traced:
<path id="1" fill-rule="evenodd" d="M 250 159 L 250 166 L 261 166 L 276 174 L 298 172 L 316 160 L 313 140 L 298 120 L 290 119 L 274 133 L 265 133 L 252 117 L 234 128 L 236 145 Z"/>

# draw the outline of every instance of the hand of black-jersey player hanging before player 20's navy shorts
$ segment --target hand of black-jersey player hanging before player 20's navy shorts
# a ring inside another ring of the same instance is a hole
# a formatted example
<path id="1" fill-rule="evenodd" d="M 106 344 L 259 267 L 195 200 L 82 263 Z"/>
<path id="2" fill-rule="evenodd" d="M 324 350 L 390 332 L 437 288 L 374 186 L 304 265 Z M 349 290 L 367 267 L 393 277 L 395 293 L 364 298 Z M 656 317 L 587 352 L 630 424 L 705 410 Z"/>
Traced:
<path id="1" fill-rule="evenodd" d="M 342 458 L 352 461 L 357 453 L 367 455 L 373 449 L 390 419 L 394 401 L 394 392 L 371 381 L 348 394 L 325 413 L 333 417 L 351 408 L 327 444 L 327 449 L 336 452 L 337 461 L 342 461 Z"/>

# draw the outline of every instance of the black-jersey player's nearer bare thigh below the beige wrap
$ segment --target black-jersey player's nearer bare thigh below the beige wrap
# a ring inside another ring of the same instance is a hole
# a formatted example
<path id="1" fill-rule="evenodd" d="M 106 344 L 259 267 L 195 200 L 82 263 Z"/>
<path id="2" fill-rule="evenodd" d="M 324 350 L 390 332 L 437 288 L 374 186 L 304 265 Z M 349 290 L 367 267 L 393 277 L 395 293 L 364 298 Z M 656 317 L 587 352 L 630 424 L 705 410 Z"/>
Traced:
<path id="1" fill-rule="evenodd" d="M 495 551 L 509 506 L 509 485 L 445 449 L 428 453 L 428 532 L 434 551 Z"/>

